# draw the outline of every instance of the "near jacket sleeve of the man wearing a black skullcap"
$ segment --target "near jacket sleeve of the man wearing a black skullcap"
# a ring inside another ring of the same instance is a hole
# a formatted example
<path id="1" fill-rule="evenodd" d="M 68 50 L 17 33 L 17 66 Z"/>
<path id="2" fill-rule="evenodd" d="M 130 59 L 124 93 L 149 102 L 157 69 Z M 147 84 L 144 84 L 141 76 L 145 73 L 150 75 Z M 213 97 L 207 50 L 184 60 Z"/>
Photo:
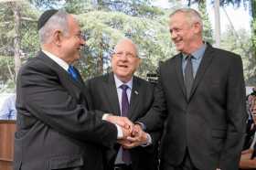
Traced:
<path id="1" fill-rule="evenodd" d="M 37 66 L 37 67 L 36 67 Z M 112 145 L 117 138 L 114 124 L 101 120 L 103 112 L 88 111 L 59 82 L 58 74 L 43 64 L 20 70 L 17 84 L 26 109 L 40 122 L 59 133 L 84 142 Z"/>

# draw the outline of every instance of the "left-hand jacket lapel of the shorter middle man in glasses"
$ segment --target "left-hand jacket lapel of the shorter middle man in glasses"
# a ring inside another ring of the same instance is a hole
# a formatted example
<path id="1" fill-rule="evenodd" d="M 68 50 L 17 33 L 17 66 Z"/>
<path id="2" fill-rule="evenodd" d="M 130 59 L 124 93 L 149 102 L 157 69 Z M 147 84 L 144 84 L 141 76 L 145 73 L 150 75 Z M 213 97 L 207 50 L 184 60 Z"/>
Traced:
<path id="1" fill-rule="evenodd" d="M 112 107 L 112 113 L 116 115 L 121 115 L 119 101 L 117 96 L 117 90 L 115 86 L 115 82 L 113 79 L 113 73 L 107 74 L 106 76 L 106 83 L 104 83 L 104 92 L 106 93 L 107 101 L 109 105 Z"/>

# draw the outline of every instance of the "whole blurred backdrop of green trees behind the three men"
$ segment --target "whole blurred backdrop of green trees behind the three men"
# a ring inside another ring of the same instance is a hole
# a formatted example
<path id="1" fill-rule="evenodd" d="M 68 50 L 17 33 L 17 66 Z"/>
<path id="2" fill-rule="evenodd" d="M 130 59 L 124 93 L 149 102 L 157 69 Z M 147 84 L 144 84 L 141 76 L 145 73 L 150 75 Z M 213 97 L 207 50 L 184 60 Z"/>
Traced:
<path id="1" fill-rule="evenodd" d="M 247 85 L 256 84 L 255 0 L 251 0 L 251 33 L 233 27 L 221 35 L 221 48 L 240 54 Z M 221 5 L 240 5 L 241 1 L 221 1 Z M 168 16 L 180 1 L 170 0 L 159 7 L 152 0 L 24 0 L 0 2 L 0 92 L 14 92 L 16 72 L 39 50 L 37 19 L 47 9 L 64 8 L 75 14 L 87 39 L 77 67 L 84 80 L 111 71 L 112 49 L 122 37 L 130 37 L 139 48 L 142 65 L 136 75 L 146 78 L 155 73 L 158 63 L 176 54 L 168 31 Z M 197 4 L 204 19 L 204 38 L 213 43 L 206 1 Z M 184 5 L 183 5 L 184 7 Z M 235 6 L 234 6 L 235 7 Z M 237 6 L 238 7 L 238 6 Z M 254 17 L 253 17 L 254 15 Z"/>

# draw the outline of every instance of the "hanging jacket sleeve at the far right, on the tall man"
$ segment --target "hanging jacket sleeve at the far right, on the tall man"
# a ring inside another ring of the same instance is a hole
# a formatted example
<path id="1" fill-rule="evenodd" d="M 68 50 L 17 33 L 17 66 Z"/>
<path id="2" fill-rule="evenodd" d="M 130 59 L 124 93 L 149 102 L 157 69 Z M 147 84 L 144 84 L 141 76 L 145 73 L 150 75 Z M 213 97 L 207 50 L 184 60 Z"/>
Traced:
<path id="1" fill-rule="evenodd" d="M 234 56 L 229 62 L 227 87 L 228 130 L 224 149 L 220 155 L 220 169 L 238 169 L 247 120 L 245 85 L 242 62 Z"/>

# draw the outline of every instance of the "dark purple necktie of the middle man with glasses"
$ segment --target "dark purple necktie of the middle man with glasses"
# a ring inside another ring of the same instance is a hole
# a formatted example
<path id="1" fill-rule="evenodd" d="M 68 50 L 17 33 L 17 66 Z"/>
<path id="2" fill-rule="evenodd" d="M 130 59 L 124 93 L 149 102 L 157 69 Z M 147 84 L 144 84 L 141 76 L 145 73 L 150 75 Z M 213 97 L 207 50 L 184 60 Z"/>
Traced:
<path id="1" fill-rule="evenodd" d="M 123 84 L 120 86 L 120 88 L 123 90 L 122 91 L 122 112 L 121 115 L 124 117 L 128 116 L 128 110 L 129 110 L 129 101 L 128 101 L 128 96 L 126 93 L 126 90 L 129 88 L 127 85 Z M 122 160 L 123 163 L 126 165 L 131 164 L 131 157 L 130 153 L 127 149 L 123 149 L 123 154 L 122 154 Z"/>

